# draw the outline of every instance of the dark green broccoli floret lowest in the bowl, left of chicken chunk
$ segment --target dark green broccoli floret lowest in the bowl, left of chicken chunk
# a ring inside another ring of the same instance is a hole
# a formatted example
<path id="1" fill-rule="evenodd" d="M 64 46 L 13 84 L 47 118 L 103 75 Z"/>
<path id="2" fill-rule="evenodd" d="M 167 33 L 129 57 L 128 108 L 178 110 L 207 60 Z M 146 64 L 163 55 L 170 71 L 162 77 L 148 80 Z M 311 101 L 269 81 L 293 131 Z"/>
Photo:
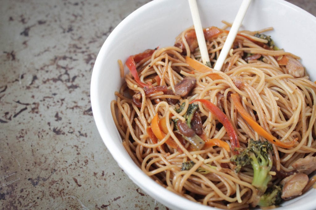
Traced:
<path id="1" fill-rule="evenodd" d="M 270 190 L 260 197 L 258 206 L 268 207 L 272 205 L 279 205 L 282 202 L 282 185 L 274 185 Z"/>

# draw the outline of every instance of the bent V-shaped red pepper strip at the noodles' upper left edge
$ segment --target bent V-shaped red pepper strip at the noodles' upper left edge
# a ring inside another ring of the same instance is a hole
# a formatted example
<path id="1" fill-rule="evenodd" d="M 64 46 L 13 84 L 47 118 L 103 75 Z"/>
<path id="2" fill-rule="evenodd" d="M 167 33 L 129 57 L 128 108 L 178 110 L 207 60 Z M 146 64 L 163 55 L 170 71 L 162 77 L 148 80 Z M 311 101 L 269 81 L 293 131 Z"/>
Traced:
<path id="1" fill-rule="evenodd" d="M 154 53 L 155 50 L 153 49 L 147 49 L 145 50 L 143 53 L 139 53 L 136 55 L 131 55 L 130 57 L 128 57 L 128 59 L 126 60 L 125 64 L 128 67 L 128 69 L 130 70 L 131 74 L 133 75 L 135 81 L 142 87 L 142 88 L 150 88 L 152 87 L 152 85 L 148 85 L 146 83 L 143 83 L 140 81 L 139 76 L 138 76 L 138 72 L 136 69 L 136 63 L 138 63 L 139 61 L 151 56 Z M 136 63 L 135 63 L 136 62 Z"/>

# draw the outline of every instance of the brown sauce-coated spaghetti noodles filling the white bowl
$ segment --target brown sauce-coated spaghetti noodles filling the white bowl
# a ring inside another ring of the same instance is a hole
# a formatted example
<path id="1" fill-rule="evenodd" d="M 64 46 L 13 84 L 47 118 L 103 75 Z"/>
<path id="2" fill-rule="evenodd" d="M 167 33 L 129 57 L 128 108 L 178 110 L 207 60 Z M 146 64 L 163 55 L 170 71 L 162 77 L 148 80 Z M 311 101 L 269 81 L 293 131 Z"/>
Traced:
<path id="1" fill-rule="evenodd" d="M 213 29 L 219 32 L 206 43 L 214 66 L 228 31 Z M 192 28 L 177 37 L 175 46 L 146 50 L 129 58 L 132 60 L 126 65 L 130 70 L 135 65 L 136 69 L 125 75 L 111 110 L 126 151 L 144 173 L 189 200 L 223 209 L 245 209 L 256 206 L 264 193 L 252 185 L 253 168 L 246 165 L 236 173 L 232 161 L 247 147 L 249 139 L 264 142 L 268 141 L 264 135 L 271 136 L 273 167 L 268 188 L 290 174 L 301 173 L 300 167 L 293 166 L 298 160 L 309 157 L 314 161 L 316 84 L 304 69 L 290 69 L 293 60 L 294 67 L 300 67 L 299 57 L 273 49 L 271 40 L 256 35 L 267 30 L 240 31 L 222 71 L 197 67 L 201 58 L 198 46 L 193 46 Z M 178 84 L 185 78 L 195 83 L 187 93 L 177 94 Z M 198 105 L 195 115 L 200 119 L 196 123 L 202 129 L 198 136 L 205 145 L 198 147 L 187 141 L 185 132 L 191 130 L 185 127 L 187 130 L 181 133 L 180 126 L 186 122 L 186 113 L 195 99 L 206 99 L 219 108 L 238 142 L 232 142 L 226 121 L 201 100 L 194 104 Z M 237 109 L 238 100 L 249 121 Z M 192 166 L 184 169 L 183 163 Z M 309 170 L 312 173 L 315 168 Z M 280 172 L 287 175 L 279 176 Z"/>

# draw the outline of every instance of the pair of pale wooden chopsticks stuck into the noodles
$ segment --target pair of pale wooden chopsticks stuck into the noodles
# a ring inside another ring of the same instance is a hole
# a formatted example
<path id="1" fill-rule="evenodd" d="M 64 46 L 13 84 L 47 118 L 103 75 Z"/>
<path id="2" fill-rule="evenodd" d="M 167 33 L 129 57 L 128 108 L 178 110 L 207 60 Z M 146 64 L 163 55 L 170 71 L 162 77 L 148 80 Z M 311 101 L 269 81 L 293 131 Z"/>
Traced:
<path id="1" fill-rule="evenodd" d="M 196 0 L 188 0 L 189 1 L 189 6 L 191 10 L 191 15 L 193 19 L 193 24 L 195 28 L 195 33 L 197 35 L 197 43 L 200 48 L 201 52 L 201 57 L 202 57 L 202 62 L 205 65 L 210 66 L 210 58 L 209 58 L 209 53 L 206 48 L 206 43 L 205 43 L 205 38 L 204 38 L 204 33 L 203 33 L 203 28 L 200 20 L 200 15 L 198 12 L 197 8 L 197 2 Z M 224 46 L 221 50 L 221 53 L 219 54 L 217 61 L 215 63 L 214 69 L 220 71 L 222 69 L 222 65 L 227 57 L 227 54 L 235 40 L 235 37 L 237 35 L 238 29 L 241 25 L 242 20 L 244 19 L 244 16 L 246 14 L 246 11 L 249 7 L 251 0 L 243 0 L 240 8 L 238 10 L 238 13 L 235 17 L 235 20 L 233 22 L 233 25 L 228 33 L 228 36 L 226 38 L 226 41 L 224 43 Z"/>

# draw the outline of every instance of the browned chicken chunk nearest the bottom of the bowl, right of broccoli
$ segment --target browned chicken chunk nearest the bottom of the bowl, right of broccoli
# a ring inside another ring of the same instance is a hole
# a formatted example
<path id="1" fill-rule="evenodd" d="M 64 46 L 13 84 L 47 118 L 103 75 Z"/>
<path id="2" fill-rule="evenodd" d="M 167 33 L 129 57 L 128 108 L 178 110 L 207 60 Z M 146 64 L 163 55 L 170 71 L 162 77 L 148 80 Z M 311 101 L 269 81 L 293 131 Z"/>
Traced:
<path id="1" fill-rule="evenodd" d="M 305 173 L 296 173 L 284 178 L 280 183 L 283 185 L 281 197 L 286 199 L 300 196 L 307 183 L 308 176 Z"/>

